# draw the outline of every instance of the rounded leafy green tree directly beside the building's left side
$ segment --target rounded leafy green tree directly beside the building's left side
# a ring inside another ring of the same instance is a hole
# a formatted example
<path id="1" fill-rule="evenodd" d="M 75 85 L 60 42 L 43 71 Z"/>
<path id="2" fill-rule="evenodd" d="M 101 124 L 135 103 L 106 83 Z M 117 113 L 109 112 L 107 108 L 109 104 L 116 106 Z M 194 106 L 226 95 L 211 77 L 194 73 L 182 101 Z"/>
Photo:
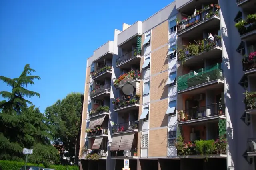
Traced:
<path id="1" fill-rule="evenodd" d="M 78 163 L 81 117 L 84 95 L 71 93 L 46 107 L 45 116 L 50 119 L 50 125 L 56 132 L 54 145 L 60 152 L 60 159 L 70 156 L 71 162 Z"/>

